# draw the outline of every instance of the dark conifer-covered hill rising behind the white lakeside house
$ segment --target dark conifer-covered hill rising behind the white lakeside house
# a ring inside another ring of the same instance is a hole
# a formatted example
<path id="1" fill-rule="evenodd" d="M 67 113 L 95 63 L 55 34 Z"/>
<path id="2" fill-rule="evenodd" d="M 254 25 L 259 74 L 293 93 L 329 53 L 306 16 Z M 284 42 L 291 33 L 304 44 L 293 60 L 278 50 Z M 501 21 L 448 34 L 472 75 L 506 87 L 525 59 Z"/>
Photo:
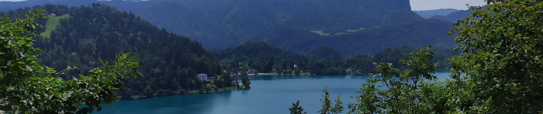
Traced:
<path id="1" fill-rule="evenodd" d="M 131 91 L 149 96 L 169 94 L 180 88 L 191 89 L 194 87 L 188 83 L 192 83 L 195 74 L 207 73 L 212 77 L 222 72 L 199 42 L 159 29 L 129 12 L 101 4 L 43 7 L 48 8 L 46 13 L 70 15 L 60 19 L 50 37 L 34 37 L 35 46 L 45 50 L 39 56 L 41 64 L 55 69 L 79 68 L 65 71 L 65 78 L 87 74 L 86 71 L 100 65 L 98 58 L 113 59 L 119 52 L 134 52 L 132 55 L 140 61 L 143 74 L 124 83 L 127 89 L 123 96 L 130 95 Z M 20 9 L 14 14 L 28 10 Z"/>

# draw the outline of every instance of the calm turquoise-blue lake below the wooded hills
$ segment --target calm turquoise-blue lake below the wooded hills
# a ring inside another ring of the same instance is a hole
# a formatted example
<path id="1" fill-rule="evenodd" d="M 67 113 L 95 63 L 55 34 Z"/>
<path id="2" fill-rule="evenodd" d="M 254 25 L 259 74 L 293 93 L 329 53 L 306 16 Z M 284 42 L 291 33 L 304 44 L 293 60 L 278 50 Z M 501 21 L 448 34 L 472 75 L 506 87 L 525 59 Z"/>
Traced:
<path id="1" fill-rule="evenodd" d="M 440 79 L 448 78 L 447 71 L 436 72 Z M 342 95 L 346 104 L 353 103 L 350 96 L 368 79 L 361 76 L 251 76 L 251 88 L 197 95 L 154 97 L 141 100 L 121 100 L 113 103 L 115 108 L 103 106 L 98 113 L 289 113 L 292 103 L 300 105 L 308 113 L 317 113 L 321 108 L 324 86 L 330 98 Z M 240 79 L 241 80 L 241 79 Z M 332 104 L 333 105 L 333 104 Z M 95 112 L 96 113 L 96 112 Z"/>

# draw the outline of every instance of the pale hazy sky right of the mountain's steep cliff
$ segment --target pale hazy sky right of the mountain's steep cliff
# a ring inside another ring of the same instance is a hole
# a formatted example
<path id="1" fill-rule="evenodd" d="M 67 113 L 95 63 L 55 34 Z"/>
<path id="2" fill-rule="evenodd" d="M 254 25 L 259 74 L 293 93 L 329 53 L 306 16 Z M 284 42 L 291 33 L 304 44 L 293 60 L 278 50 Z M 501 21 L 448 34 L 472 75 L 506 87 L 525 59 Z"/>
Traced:
<path id="1" fill-rule="evenodd" d="M 25 0 L 0 0 L 0 1 L 25 1 Z M 392 0 L 394 1 L 394 0 Z M 409 0 L 412 10 L 435 10 L 452 8 L 458 10 L 468 9 L 466 4 L 486 5 L 484 0 Z"/>

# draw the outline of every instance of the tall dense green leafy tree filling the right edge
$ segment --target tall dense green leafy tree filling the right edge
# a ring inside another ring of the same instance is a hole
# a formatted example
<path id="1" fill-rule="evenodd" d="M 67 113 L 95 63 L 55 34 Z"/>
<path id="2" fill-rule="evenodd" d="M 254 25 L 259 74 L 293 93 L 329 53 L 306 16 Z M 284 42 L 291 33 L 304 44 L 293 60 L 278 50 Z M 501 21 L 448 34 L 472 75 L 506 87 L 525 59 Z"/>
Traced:
<path id="1" fill-rule="evenodd" d="M 543 2 L 486 0 L 455 23 L 464 53 L 452 58 L 455 109 L 463 112 L 543 111 Z M 465 73 L 465 75 L 463 75 Z"/>

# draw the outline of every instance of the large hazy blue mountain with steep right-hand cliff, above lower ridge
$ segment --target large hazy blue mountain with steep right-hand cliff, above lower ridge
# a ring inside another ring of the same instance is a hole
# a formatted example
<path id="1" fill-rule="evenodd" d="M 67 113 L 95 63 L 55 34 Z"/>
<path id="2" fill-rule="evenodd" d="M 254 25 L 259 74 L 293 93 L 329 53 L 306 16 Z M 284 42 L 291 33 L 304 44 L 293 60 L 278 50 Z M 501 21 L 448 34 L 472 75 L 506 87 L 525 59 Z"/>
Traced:
<path id="1" fill-rule="evenodd" d="M 267 31 L 276 24 L 306 32 L 344 31 L 423 19 L 410 10 L 408 1 L 405 0 L 212 2 L 214 1 L 161 1 L 134 12 L 156 25 L 205 42 L 204 46 L 207 48 L 232 47 L 246 41 L 266 41 L 262 36 L 268 33 L 284 34 Z M 199 5 L 191 6 L 192 4 L 207 5 L 198 7 Z M 172 11 L 182 13 L 173 15 Z"/>

